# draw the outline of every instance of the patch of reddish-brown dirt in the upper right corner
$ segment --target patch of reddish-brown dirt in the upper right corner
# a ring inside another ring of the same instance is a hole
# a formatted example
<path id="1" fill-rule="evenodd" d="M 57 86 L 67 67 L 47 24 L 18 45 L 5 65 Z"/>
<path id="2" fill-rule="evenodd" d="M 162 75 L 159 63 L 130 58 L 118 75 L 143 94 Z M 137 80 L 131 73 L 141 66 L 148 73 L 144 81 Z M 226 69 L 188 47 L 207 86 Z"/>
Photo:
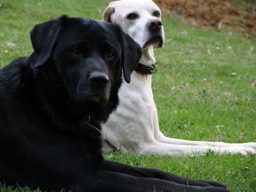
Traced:
<path id="1" fill-rule="evenodd" d="M 227 0 L 154 0 L 162 12 L 191 26 L 222 24 L 246 36 L 256 36 L 256 14 L 236 8 Z"/>

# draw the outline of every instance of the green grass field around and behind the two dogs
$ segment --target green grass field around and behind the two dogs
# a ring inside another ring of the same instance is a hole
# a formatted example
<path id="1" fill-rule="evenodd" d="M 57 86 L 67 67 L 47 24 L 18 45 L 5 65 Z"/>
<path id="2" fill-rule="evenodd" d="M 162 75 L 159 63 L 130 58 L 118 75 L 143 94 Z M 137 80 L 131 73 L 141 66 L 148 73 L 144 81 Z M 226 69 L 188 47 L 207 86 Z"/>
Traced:
<path id="1" fill-rule="evenodd" d="M 1 0 L 0 66 L 32 52 L 29 32 L 67 14 L 100 19 L 103 0 Z M 153 76 L 159 124 L 168 137 L 256 142 L 256 39 L 226 30 L 192 28 L 164 18 L 165 47 Z M 187 34 L 180 31 L 185 30 Z M 2 154 L 1 154 L 2 155 Z M 135 166 L 217 180 L 233 192 L 256 191 L 256 155 L 158 156 L 105 153 Z M 0 192 L 29 191 L 0 185 Z"/>

